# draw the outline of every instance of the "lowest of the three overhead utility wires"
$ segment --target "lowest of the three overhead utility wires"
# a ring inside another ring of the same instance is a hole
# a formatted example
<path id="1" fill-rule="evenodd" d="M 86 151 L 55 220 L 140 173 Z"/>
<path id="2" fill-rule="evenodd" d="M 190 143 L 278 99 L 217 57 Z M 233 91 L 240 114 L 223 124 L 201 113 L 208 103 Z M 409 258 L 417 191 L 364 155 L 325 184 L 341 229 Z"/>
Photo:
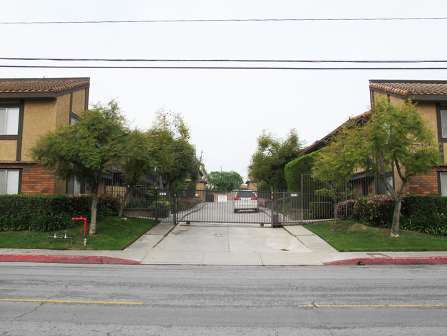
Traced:
<path id="1" fill-rule="evenodd" d="M 0 67 L 60 69 L 177 69 L 177 70 L 447 70 L 447 67 L 153 67 L 94 65 L 0 65 Z"/>

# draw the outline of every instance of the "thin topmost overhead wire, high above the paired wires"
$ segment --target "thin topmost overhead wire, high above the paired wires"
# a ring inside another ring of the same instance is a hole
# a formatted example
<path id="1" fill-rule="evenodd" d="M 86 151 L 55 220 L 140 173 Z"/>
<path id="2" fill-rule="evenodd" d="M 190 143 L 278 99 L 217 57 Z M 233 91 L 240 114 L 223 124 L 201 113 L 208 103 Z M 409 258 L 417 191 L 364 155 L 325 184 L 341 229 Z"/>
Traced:
<path id="1" fill-rule="evenodd" d="M 17 21 L 0 22 L 2 25 L 52 25 L 83 23 L 188 23 L 188 22 L 281 22 L 281 21 L 407 21 L 407 20 L 446 20 L 447 17 L 382 17 L 382 18 L 320 18 L 320 19 L 173 19 L 173 20 L 108 20 L 108 21 Z"/>

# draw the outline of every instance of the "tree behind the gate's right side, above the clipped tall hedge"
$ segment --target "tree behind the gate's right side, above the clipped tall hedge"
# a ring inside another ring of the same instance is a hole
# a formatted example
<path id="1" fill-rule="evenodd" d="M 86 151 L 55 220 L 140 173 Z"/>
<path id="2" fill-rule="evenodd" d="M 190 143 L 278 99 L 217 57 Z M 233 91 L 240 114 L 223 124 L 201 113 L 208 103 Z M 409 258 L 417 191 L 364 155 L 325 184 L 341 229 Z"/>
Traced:
<path id="1" fill-rule="evenodd" d="M 248 166 L 248 176 L 259 182 L 265 181 L 269 187 L 287 189 L 284 167 L 298 158 L 303 145 L 296 129 L 290 129 L 285 139 L 276 138 L 264 129 L 257 143 Z"/>

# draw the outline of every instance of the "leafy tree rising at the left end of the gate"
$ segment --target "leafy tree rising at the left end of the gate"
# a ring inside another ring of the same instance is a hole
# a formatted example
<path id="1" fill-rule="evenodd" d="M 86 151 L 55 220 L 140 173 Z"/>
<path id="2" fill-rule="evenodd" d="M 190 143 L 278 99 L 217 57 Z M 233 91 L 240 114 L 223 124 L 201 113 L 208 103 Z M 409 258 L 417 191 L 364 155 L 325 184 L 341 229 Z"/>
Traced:
<path id="1" fill-rule="evenodd" d="M 188 177 L 197 178 L 198 162 L 195 147 L 188 143 L 189 129 L 182 116 L 160 109 L 149 129 L 151 155 L 155 168 L 169 189 L 173 183 L 183 183 Z"/>

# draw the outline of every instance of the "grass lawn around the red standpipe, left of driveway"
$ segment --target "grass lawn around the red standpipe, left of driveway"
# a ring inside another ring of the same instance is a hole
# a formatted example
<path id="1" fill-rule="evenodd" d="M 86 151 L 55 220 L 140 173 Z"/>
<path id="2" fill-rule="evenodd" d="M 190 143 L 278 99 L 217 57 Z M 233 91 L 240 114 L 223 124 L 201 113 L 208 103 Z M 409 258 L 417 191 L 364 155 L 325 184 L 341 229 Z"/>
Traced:
<path id="1" fill-rule="evenodd" d="M 84 246 L 84 223 L 76 222 L 74 227 L 68 229 L 35 232 L 35 231 L 0 231 L 1 249 L 72 249 L 72 250 L 122 250 L 140 236 L 155 227 L 157 222 L 127 218 L 123 222 L 119 217 L 108 217 L 96 222 L 96 235 L 88 234 L 87 222 L 87 246 Z M 72 245 L 69 239 L 50 239 L 49 235 L 65 235 L 73 237 Z"/>

